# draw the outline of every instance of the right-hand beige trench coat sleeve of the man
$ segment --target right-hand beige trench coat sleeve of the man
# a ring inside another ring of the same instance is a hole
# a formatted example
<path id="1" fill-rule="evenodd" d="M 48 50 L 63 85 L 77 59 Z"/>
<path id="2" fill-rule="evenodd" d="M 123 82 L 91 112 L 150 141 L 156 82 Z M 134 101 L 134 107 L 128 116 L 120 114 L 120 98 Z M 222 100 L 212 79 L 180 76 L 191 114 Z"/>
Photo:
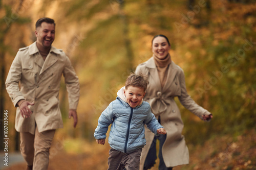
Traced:
<path id="1" fill-rule="evenodd" d="M 75 69 L 71 65 L 71 62 L 67 56 L 65 68 L 63 70 L 63 76 L 65 78 L 65 83 L 68 91 L 69 108 L 76 110 L 80 96 L 80 85 Z"/>

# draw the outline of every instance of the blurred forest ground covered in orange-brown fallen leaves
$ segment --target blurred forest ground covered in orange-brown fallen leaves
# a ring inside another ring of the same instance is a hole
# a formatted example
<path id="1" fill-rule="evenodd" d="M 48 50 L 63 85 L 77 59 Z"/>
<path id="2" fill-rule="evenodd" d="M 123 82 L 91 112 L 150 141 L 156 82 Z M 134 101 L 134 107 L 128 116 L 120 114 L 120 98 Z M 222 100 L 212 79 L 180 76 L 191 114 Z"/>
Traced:
<path id="1" fill-rule="evenodd" d="M 243 135 L 233 137 L 230 135 L 212 137 L 202 145 L 196 147 L 187 143 L 190 152 L 188 165 L 175 167 L 182 169 L 256 169 L 256 135 L 255 130 L 248 130 Z M 96 142 L 95 142 L 96 143 Z M 68 169 L 107 169 L 109 144 L 87 144 L 90 149 L 84 153 L 70 153 L 65 149 L 57 152 L 50 159 L 49 170 Z M 158 161 L 157 161 L 158 163 Z M 4 170 L 26 169 L 25 163 L 9 165 Z M 151 170 L 156 170 L 153 167 Z"/>

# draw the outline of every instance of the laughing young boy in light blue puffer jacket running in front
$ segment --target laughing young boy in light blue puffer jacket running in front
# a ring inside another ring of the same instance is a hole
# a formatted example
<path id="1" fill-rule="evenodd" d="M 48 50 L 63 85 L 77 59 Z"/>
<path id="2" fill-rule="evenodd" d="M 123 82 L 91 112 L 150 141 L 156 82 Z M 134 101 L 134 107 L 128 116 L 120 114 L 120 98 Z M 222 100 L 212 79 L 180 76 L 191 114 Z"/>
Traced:
<path id="1" fill-rule="evenodd" d="M 151 112 L 150 104 L 143 102 L 147 78 L 143 74 L 131 74 L 117 92 L 117 99 L 101 113 L 94 137 L 105 144 L 110 129 L 109 170 L 139 169 L 140 155 L 146 144 L 144 124 L 156 135 L 166 134 L 165 129 Z"/>

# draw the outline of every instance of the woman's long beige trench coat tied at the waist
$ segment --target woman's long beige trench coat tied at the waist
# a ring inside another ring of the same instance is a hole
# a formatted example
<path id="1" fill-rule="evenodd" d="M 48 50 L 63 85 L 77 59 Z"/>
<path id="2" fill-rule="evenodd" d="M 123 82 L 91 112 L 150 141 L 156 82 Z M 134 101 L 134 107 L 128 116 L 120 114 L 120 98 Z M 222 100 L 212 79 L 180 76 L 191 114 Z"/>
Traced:
<path id="1" fill-rule="evenodd" d="M 181 104 L 201 119 L 203 114 L 208 115 L 210 112 L 197 105 L 187 94 L 184 72 L 173 61 L 169 65 L 167 80 L 163 89 L 161 88 L 153 57 L 145 63 L 138 65 L 136 72 L 142 72 L 148 76 L 149 84 L 146 89 L 144 101 L 150 103 L 152 112 L 157 118 L 158 116 L 161 117 L 161 125 L 167 132 L 162 148 L 165 165 L 167 167 L 174 167 L 188 164 L 188 149 L 184 136 L 181 134 L 183 122 L 174 97 L 178 96 Z M 145 138 L 146 145 L 142 150 L 140 169 L 143 169 L 146 155 L 154 139 L 154 134 L 147 128 L 145 128 Z"/>

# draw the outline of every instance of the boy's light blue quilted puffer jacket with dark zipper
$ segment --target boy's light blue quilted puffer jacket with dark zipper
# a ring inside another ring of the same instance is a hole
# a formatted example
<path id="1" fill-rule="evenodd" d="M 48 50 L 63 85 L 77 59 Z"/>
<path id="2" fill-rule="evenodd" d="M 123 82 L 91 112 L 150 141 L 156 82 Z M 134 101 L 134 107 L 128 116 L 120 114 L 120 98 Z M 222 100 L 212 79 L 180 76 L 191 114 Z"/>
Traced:
<path id="1" fill-rule="evenodd" d="M 163 128 L 151 112 L 150 104 L 143 102 L 132 108 L 119 97 L 101 113 L 94 137 L 105 139 L 110 124 L 110 147 L 123 153 L 131 153 L 144 147 L 144 124 L 155 135 L 159 135 L 157 129 Z"/>

